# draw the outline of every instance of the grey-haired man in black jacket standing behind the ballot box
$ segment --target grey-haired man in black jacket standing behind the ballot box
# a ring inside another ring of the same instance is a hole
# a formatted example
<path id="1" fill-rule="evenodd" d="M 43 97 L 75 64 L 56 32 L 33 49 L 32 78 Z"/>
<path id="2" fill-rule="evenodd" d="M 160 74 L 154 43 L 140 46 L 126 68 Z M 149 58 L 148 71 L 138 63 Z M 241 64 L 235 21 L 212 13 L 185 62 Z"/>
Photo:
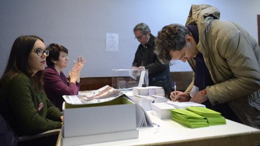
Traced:
<path id="1" fill-rule="evenodd" d="M 134 28 L 135 39 L 140 44 L 137 48 L 132 68 L 148 69 L 149 86 L 163 87 L 165 97 L 169 98 L 171 92 L 171 76 L 169 64 L 162 64 L 154 51 L 154 39 L 149 27 L 145 23 L 139 23 Z"/>

